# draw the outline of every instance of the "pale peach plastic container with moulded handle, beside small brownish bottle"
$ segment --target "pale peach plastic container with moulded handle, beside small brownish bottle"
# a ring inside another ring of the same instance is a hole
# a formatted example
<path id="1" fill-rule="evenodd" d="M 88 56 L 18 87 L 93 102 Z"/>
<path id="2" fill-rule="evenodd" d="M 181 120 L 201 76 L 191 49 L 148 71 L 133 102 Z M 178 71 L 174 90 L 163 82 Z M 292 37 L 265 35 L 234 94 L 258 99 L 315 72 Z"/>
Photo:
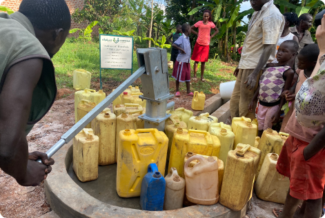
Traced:
<path id="1" fill-rule="evenodd" d="M 191 161 L 198 160 L 193 168 Z M 213 157 L 205 159 L 199 155 L 190 157 L 184 166 L 186 197 L 195 204 L 212 205 L 219 200 L 218 192 L 218 162 Z"/>

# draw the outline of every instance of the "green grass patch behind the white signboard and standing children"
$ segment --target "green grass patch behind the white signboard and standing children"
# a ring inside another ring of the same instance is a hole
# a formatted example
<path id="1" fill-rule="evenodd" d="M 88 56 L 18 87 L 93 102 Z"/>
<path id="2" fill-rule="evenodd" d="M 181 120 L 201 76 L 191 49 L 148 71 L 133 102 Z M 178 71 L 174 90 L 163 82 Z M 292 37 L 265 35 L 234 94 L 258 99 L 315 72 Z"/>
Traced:
<path id="1" fill-rule="evenodd" d="M 168 53 L 168 59 L 170 54 Z M 64 43 L 61 50 L 52 59 L 55 65 L 55 73 L 58 88 L 73 88 L 72 72 L 75 69 L 85 69 L 92 73 L 92 85 L 99 81 L 99 43 L 68 42 Z M 191 61 L 191 67 L 193 62 Z M 137 70 L 137 54 L 133 54 L 133 71 Z M 206 83 L 201 81 L 193 82 L 191 90 L 203 91 L 204 93 L 217 93 L 219 83 L 233 81 L 233 70 L 235 66 L 221 62 L 218 59 L 210 59 L 206 63 L 204 78 Z M 170 81 L 173 70 L 169 70 Z M 191 73 L 193 77 L 193 72 Z M 101 70 L 103 83 L 121 83 L 130 76 L 130 70 Z M 200 76 L 200 64 L 197 77 Z M 115 88 L 115 87 L 114 87 Z M 185 84 L 181 84 L 180 90 L 185 91 Z M 173 88 L 170 91 L 175 91 Z"/>

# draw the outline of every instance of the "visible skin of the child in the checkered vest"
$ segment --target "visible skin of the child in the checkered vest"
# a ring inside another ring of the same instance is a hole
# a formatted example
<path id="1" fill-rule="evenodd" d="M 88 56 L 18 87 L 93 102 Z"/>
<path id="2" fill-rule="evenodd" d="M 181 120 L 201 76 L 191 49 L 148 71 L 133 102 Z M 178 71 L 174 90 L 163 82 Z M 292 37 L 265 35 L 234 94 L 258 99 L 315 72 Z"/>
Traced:
<path id="1" fill-rule="evenodd" d="M 279 49 L 277 50 L 277 61 L 278 63 L 268 63 L 266 64 L 266 67 L 273 67 L 273 66 L 284 66 L 288 65 L 288 62 L 290 59 L 295 58 L 296 52 L 293 52 L 293 48 L 290 47 L 290 43 L 282 43 L 281 46 L 279 46 Z M 286 82 L 284 83 L 284 90 L 289 90 L 291 83 L 293 81 L 293 77 L 295 75 L 295 71 L 292 69 L 286 70 L 284 72 L 284 79 Z M 253 106 L 257 103 L 257 97 L 259 95 L 259 87 L 255 91 L 254 97 L 252 101 L 248 104 L 248 110 L 249 112 L 253 112 L 254 108 Z M 275 115 L 271 118 L 272 123 L 278 123 L 279 118 L 281 115 L 281 108 L 286 103 L 286 99 L 284 97 L 281 97 L 281 101 L 279 103 L 279 109 L 277 112 L 275 112 Z M 263 130 L 259 130 L 258 136 L 262 137 Z"/>

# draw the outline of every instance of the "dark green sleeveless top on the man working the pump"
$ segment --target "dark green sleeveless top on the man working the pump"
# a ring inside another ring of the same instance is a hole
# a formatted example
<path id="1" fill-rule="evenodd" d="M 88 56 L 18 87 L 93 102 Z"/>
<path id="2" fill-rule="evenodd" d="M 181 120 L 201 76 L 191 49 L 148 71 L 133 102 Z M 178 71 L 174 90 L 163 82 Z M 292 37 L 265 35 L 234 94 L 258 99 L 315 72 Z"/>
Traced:
<path id="1" fill-rule="evenodd" d="M 32 106 L 26 123 L 26 135 L 50 110 L 57 96 L 55 70 L 45 48 L 35 37 L 32 23 L 20 12 L 0 12 L 0 95 L 8 71 L 14 64 L 28 59 L 43 59 L 41 77 L 32 95 Z"/>

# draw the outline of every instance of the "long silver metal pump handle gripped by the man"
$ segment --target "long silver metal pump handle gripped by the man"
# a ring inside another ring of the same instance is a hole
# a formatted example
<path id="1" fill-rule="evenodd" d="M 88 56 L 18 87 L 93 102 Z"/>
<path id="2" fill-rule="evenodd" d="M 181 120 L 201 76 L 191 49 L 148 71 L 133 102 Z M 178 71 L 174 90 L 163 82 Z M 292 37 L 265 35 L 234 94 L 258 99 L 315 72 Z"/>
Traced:
<path id="1" fill-rule="evenodd" d="M 112 103 L 128 86 L 130 86 L 136 79 L 146 72 L 146 67 L 143 65 L 137 71 L 135 71 L 126 81 L 121 83 L 114 91 L 110 93 L 103 101 L 101 101 L 95 108 L 90 110 L 88 114 L 75 123 L 72 128 L 70 128 L 65 134 L 61 136 L 61 139 L 55 143 L 52 148 L 50 148 L 46 154 L 48 158 L 52 157 L 65 143 L 68 143 L 73 137 L 75 137 L 83 128 L 87 126 L 88 123 L 95 119 L 100 112 L 102 112 L 107 106 Z M 41 160 L 37 160 L 41 163 Z"/>

